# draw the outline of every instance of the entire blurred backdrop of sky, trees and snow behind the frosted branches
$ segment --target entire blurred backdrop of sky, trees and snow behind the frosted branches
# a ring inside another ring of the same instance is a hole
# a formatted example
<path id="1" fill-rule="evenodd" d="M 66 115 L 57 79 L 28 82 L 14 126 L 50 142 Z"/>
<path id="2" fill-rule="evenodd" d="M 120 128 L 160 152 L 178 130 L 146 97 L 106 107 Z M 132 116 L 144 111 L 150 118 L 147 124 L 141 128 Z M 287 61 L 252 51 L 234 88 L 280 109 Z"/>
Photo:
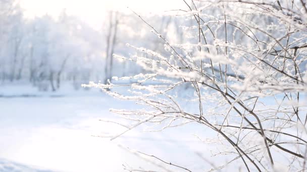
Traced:
<path id="1" fill-rule="evenodd" d="M 179 27 L 195 23 L 164 15 L 181 8 L 185 4 L 175 0 L 0 0 L 0 171 L 123 171 L 123 165 L 155 169 L 119 145 L 202 169 L 191 152 L 201 144 L 192 134 L 206 134 L 203 128 L 159 133 L 141 133 L 139 128 L 112 142 L 93 137 L 125 130 L 99 120 L 125 123 L 109 109 L 135 104 L 81 87 L 145 72 L 112 56 L 140 53 L 127 43 L 166 52 L 164 42 L 131 10 L 170 43 L 197 40 L 183 37 Z"/>

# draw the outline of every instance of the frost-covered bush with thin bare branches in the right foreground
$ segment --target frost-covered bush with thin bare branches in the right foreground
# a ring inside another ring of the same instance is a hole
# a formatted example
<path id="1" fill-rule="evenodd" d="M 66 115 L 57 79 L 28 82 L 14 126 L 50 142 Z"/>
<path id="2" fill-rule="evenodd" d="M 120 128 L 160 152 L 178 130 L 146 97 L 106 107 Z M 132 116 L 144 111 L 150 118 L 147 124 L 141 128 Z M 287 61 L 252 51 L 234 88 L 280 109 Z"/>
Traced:
<path id="1" fill-rule="evenodd" d="M 111 110 L 134 122 L 126 131 L 143 123 L 154 123 L 152 130 L 194 123 L 216 132 L 215 142 L 225 146 L 219 154 L 232 154 L 229 163 L 241 164 L 244 171 L 272 171 L 280 164 L 288 171 L 305 170 L 307 8 L 303 1 L 183 3 L 186 9 L 168 14 L 183 20 L 176 26 L 184 33 L 183 42 L 169 41 L 139 16 L 164 41 L 167 55 L 129 44 L 136 54 L 114 55 L 146 71 L 113 78 L 131 79 L 131 90 L 115 92 L 126 85 L 111 82 L 84 86 L 140 104 L 139 110 Z"/>

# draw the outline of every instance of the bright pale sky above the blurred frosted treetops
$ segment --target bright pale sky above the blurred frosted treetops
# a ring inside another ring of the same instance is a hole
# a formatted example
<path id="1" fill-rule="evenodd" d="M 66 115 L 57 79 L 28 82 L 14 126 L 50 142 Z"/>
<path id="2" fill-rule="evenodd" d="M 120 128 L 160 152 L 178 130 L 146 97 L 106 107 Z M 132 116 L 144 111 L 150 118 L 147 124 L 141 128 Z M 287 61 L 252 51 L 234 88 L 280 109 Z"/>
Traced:
<path id="1" fill-rule="evenodd" d="M 57 17 L 63 9 L 96 27 L 101 25 L 106 12 L 116 10 L 129 13 L 129 7 L 141 14 L 162 14 L 184 7 L 181 0 L 20 0 L 25 17 L 51 15 Z"/>

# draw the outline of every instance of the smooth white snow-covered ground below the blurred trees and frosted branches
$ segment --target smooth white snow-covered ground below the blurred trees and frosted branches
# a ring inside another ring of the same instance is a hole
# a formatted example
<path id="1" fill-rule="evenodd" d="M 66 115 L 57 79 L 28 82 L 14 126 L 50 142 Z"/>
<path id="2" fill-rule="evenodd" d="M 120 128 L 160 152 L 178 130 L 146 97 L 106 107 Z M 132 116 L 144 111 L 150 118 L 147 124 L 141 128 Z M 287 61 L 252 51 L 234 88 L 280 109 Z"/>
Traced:
<path id="1" fill-rule="evenodd" d="M 0 86 L 0 95 L 0 171 L 123 171 L 123 164 L 157 169 L 123 147 L 156 155 L 192 171 L 212 166 L 196 152 L 214 160 L 208 145 L 193 135 L 208 134 L 208 128 L 201 126 L 150 133 L 140 132 L 144 127 L 140 126 L 113 141 L 94 137 L 125 129 L 99 121 L 123 120 L 109 112 L 110 108 L 135 107 L 133 102 L 115 100 L 99 90 L 74 91 L 67 86 L 51 93 L 37 92 L 29 85 L 7 84 Z"/>

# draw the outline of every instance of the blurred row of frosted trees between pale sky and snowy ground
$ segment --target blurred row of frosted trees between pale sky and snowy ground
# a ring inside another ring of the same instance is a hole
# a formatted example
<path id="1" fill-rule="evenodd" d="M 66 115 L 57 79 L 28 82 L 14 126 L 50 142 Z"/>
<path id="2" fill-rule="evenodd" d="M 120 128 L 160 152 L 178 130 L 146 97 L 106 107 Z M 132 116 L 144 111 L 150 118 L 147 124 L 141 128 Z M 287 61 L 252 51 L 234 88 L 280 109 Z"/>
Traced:
<path id="1" fill-rule="evenodd" d="M 79 88 L 89 80 L 106 82 L 112 75 L 140 72 L 134 63 L 112 56 L 132 53 L 126 43 L 141 45 L 147 39 L 142 46 L 163 46 L 135 15 L 110 11 L 104 18 L 98 30 L 65 10 L 58 18 L 26 18 L 17 1 L 0 0 L 0 81 L 22 80 L 56 91 L 62 80 L 69 80 Z M 159 23 L 163 33 L 172 26 L 169 17 L 150 20 Z"/>

